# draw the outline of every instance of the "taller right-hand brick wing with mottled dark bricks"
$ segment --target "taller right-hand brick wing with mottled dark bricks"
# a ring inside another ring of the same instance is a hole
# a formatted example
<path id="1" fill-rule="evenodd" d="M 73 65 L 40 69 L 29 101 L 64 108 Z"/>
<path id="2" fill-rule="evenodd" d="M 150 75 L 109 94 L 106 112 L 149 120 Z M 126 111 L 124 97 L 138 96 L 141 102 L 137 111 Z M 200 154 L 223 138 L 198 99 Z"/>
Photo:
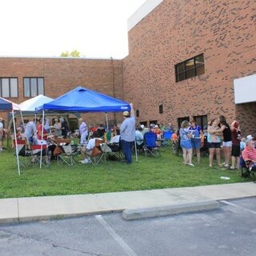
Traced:
<path id="1" fill-rule="evenodd" d="M 256 74 L 254 0 L 149 0 L 128 27 L 124 95 L 139 122 L 206 125 L 223 114 L 255 134 L 256 90 L 250 103 L 234 104 L 234 79 Z"/>

